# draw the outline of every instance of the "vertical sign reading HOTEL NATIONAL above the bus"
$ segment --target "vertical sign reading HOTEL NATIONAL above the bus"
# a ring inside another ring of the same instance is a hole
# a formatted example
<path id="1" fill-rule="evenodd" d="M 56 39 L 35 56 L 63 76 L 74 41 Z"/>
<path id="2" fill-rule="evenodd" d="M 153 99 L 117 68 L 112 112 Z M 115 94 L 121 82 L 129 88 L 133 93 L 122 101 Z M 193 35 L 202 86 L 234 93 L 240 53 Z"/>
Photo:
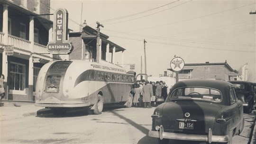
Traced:
<path id="1" fill-rule="evenodd" d="M 68 12 L 66 9 L 58 9 L 54 20 L 54 42 L 46 46 L 51 54 L 68 54 L 72 52 L 73 45 L 68 42 Z"/>

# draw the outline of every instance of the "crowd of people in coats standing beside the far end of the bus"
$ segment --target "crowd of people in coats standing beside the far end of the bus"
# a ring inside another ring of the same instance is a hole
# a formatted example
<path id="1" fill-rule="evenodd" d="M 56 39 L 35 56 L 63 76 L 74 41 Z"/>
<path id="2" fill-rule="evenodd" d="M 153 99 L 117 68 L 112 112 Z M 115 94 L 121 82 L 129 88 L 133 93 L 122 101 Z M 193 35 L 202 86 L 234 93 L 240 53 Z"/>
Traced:
<path id="1" fill-rule="evenodd" d="M 163 103 L 167 98 L 165 81 L 136 81 L 134 87 L 134 107 L 152 108 Z"/>

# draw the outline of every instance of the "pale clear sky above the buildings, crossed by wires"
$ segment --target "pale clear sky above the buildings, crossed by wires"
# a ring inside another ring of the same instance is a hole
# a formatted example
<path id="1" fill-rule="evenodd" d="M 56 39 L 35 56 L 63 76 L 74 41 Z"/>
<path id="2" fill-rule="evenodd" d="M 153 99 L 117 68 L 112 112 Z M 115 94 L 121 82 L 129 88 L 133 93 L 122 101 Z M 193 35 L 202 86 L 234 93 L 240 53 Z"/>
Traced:
<path id="1" fill-rule="evenodd" d="M 255 0 L 51 0 L 51 13 L 67 9 L 69 28 L 97 27 L 126 49 L 117 61 L 137 73 L 159 76 L 174 56 L 184 63 L 227 63 L 239 71 L 248 63 L 256 82 Z M 52 16 L 51 16 L 52 17 Z M 53 19 L 51 19 L 53 20 Z M 141 67 L 142 65 L 142 67 Z"/>

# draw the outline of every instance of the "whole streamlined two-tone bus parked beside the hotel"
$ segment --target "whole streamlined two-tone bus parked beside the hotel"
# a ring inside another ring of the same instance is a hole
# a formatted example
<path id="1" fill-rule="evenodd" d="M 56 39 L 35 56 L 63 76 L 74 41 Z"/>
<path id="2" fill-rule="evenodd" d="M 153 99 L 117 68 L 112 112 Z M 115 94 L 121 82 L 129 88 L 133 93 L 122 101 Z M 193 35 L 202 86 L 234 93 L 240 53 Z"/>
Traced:
<path id="1" fill-rule="evenodd" d="M 84 107 L 89 114 L 101 114 L 104 104 L 132 106 L 134 71 L 117 65 L 81 60 L 46 63 L 37 76 L 36 102 L 54 114 Z"/>

